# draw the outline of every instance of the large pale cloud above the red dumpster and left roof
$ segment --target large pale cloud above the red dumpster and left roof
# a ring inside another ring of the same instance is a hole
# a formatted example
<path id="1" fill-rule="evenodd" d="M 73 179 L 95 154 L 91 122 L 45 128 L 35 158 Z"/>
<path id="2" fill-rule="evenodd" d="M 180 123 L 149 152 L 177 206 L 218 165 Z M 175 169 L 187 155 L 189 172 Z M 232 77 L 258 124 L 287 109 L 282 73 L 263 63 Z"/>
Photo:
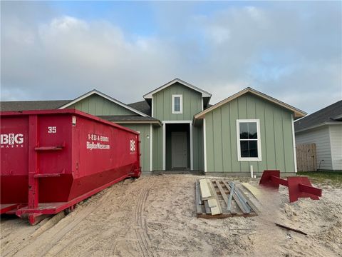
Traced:
<path id="1" fill-rule="evenodd" d="M 61 16 L 37 24 L 29 36 L 24 27 L 16 28 L 15 36 L 4 36 L 1 89 L 26 91 L 27 99 L 68 99 L 99 89 L 135 101 L 145 93 L 140 89 L 148 83 L 147 74 L 157 79 L 160 69 L 172 70 L 172 65 L 170 69 L 165 65 L 172 57 L 160 42 L 149 38 L 127 41 L 120 28 L 105 21 Z M 30 40 L 18 40 L 26 38 Z M 9 93 L 1 96 L 8 98 Z"/>

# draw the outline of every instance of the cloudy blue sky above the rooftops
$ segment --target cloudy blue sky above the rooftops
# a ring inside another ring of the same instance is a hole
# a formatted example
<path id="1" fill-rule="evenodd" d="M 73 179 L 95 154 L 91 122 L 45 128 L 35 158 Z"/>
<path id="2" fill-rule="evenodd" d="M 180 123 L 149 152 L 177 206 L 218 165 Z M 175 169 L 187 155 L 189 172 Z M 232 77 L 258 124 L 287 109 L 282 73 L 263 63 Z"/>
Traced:
<path id="1" fill-rule="evenodd" d="M 1 101 L 130 104 L 175 78 L 318 111 L 342 99 L 342 1 L 1 1 Z"/>

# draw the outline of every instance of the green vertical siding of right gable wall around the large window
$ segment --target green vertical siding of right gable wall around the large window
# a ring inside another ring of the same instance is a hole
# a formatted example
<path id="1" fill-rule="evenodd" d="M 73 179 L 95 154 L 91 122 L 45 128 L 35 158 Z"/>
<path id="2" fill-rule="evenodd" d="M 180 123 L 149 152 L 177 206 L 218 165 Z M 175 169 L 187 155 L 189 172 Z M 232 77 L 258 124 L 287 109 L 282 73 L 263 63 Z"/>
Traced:
<path id="1" fill-rule="evenodd" d="M 291 111 L 252 94 L 245 94 L 205 115 L 207 171 L 294 172 Z M 259 119 L 261 160 L 238 161 L 237 119 Z"/>

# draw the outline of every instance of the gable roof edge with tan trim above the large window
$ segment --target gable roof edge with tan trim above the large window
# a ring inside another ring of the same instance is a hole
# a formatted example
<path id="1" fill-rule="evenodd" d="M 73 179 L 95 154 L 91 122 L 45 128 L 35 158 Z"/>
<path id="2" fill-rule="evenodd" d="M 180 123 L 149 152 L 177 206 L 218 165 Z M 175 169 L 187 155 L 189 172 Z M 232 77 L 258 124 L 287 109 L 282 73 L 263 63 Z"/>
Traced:
<path id="1" fill-rule="evenodd" d="M 261 93 L 255 89 L 250 88 L 250 87 L 247 87 L 246 89 L 243 89 L 242 91 L 237 92 L 237 94 L 229 96 L 227 99 L 224 99 L 224 100 L 220 101 L 219 103 L 214 104 L 213 106 L 205 109 L 204 111 L 201 111 L 198 114 L 195 114 L 194 119 L 203 119 L 205 114 L 207 114 L 209 111 L 217 109 L 219 106 L 227 104 L 229 101 L 237 99 L 239 96 L 242 96 L 242 95 L 247 94 L 247 93 L 254 94 L 255 96 L 259 96 L 262 99 L 265 99 L 266 101 L 270 101 L 271 103 L 276 104 L 278 106 L 281 106 L 285 109 L 288 109 L 289 111 L 293 111 L 294 112 L 294 118 L 301 118 L 301 117 L 306 116 L 306 112 L 301 111 L 299 109 L 296 109 L 294 106 L 290 106 L 289 104 L 285 104 L 284 102 L 279 101 L 278 99 L 275 99 L 271 96 L 267 96 L 264 93 Z"/>

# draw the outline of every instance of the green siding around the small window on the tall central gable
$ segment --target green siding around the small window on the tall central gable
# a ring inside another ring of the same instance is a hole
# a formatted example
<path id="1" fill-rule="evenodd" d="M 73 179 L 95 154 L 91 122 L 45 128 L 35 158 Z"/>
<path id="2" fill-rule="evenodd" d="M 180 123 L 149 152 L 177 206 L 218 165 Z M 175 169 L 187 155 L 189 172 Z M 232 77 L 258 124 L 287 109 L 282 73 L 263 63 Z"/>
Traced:
<path id="1" fill-rule="evenodd" d="M 172 114 L 172 95 L 183 96 L 183 113 Z M 202 111 L 202 94 L 187 86 L 175 83 L 152 96 L 153 117 L 160 121 L 192 121 L 194 114 Z"/>

